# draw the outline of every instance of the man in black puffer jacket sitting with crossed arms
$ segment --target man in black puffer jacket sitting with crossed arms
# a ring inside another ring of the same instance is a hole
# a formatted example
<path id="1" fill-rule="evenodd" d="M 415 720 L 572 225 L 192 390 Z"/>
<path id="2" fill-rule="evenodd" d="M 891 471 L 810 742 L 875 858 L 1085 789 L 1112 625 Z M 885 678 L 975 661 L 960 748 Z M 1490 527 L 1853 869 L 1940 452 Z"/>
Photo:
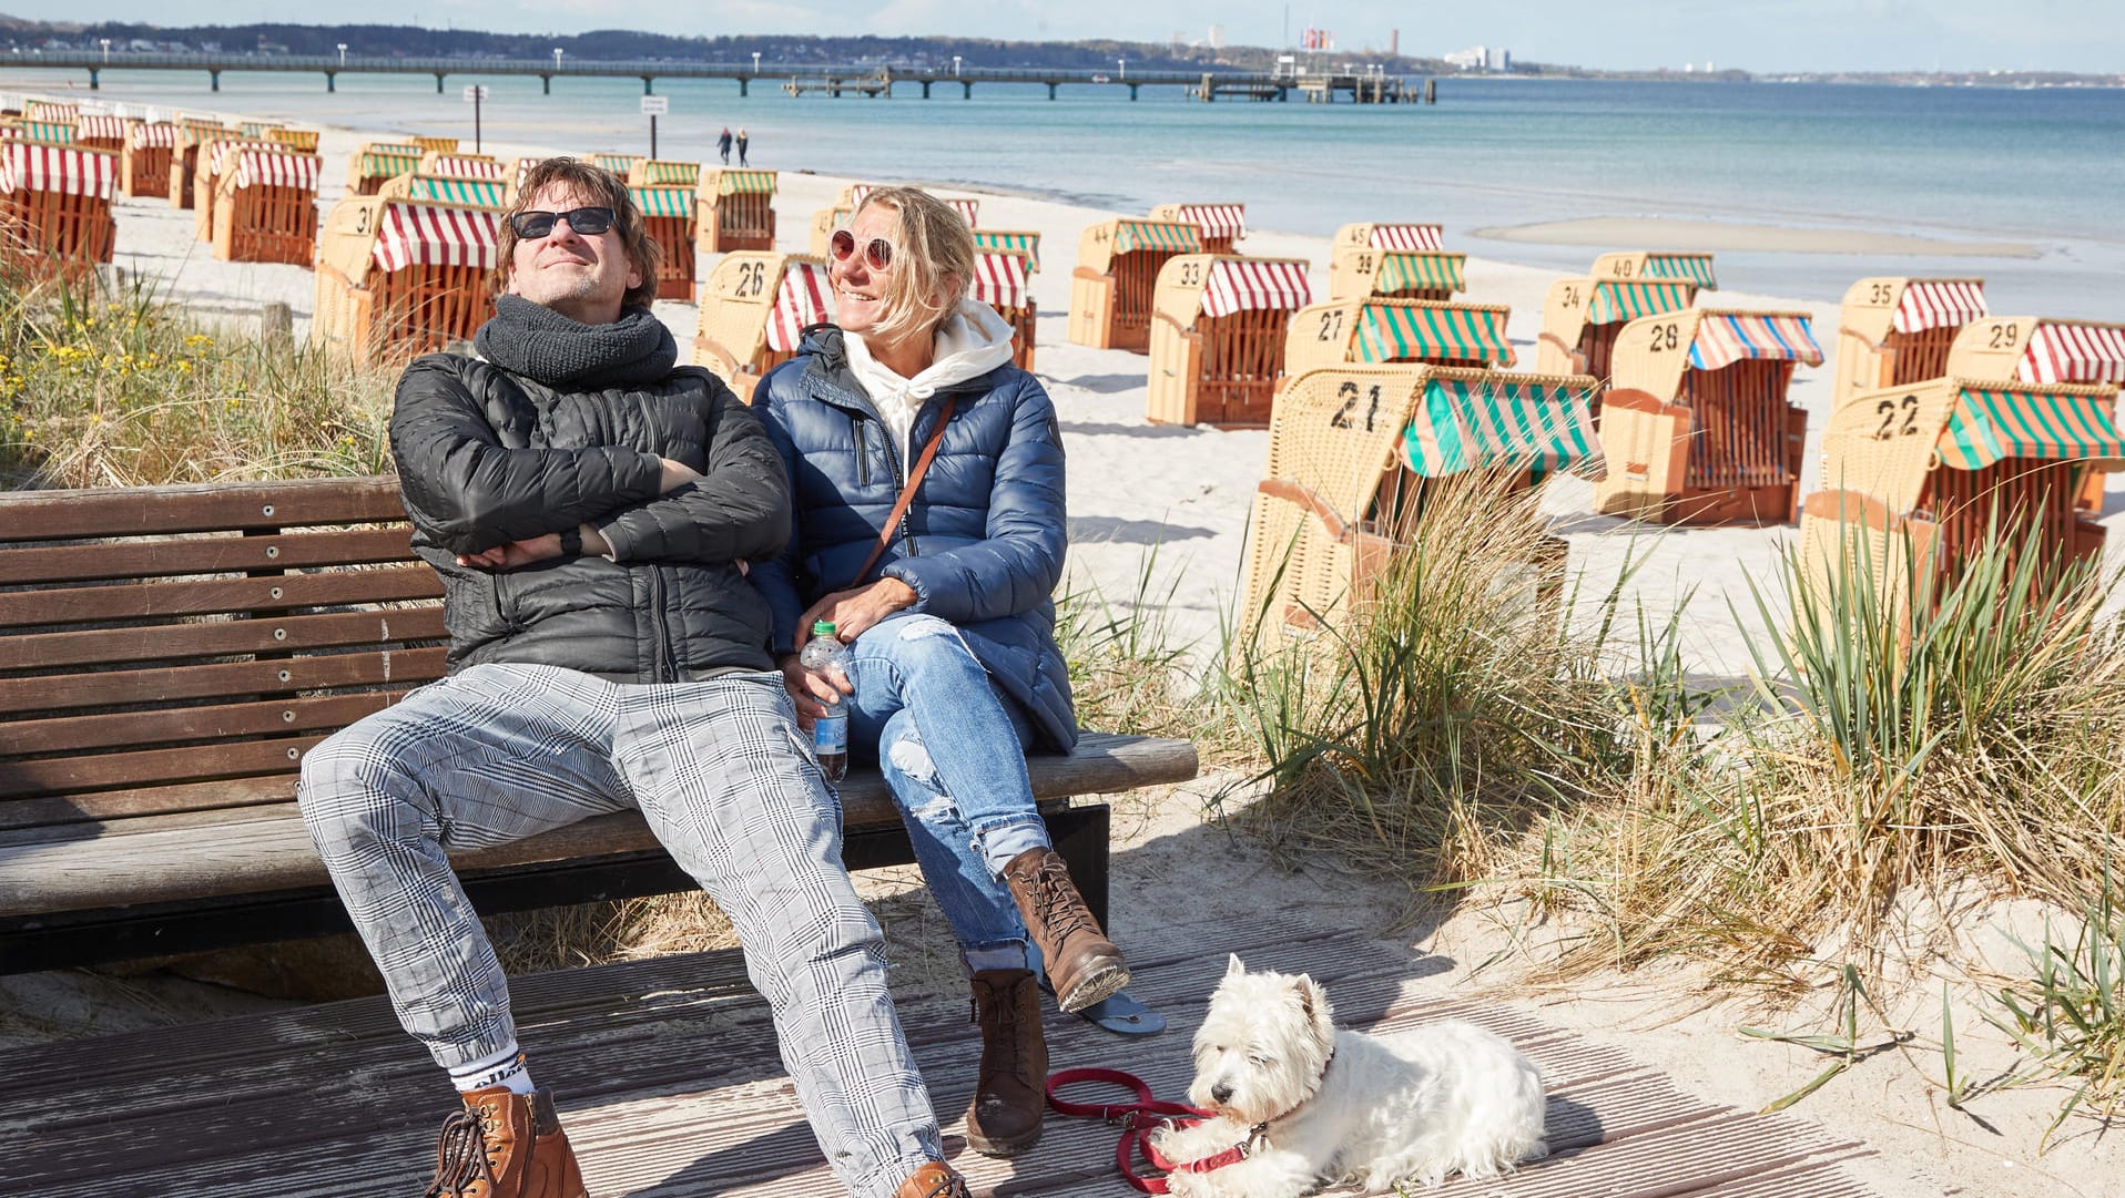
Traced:
<path id="1" fill-rule="evenodd" d="M 497 255 L 480 357 L 416 359 L 391 414 L 450 675 L 312 750 L 300 788 L 400 1022 L 463 1098 L 429 1196 L 584 1196 L 444 854 L 627 807 L 731 915 L 848 1192 L 965 1196 L 744 578 L 788 535 L 782 461 L 720 380 L 676 365 L 625 183 L 533 166 Z"/>

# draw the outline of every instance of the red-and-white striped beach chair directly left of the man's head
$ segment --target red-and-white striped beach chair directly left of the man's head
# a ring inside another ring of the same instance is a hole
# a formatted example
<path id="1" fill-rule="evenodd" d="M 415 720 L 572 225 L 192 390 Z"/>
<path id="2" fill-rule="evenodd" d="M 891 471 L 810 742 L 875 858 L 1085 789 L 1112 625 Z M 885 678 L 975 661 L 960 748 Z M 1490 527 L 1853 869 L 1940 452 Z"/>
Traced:
<path id="1" fill-rule="evenodd" d="M 325 217 L 310 340 L 406 361 L 468 342 L 493 314 L 493 208 L 348 195 Z"/>

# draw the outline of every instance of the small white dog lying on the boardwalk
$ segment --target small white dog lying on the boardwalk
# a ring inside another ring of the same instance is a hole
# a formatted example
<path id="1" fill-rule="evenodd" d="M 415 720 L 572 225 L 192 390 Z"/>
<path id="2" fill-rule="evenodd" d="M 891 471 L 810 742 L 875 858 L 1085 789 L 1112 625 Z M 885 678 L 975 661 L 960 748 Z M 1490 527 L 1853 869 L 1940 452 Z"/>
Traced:
<path id="1" fill-rule="evenodd" d="M 1475 1024 L 1428 1024 L 1377 1041 L 1337 1030 L 1307 975 L 1247 973 L 1235 956 L 1194 1039 L 1188 1100 L 1218 1113 L 1164 1128 L 1173 1162 L 1228 1164 L 1167 1177 L 1182 1198 L 1296 1198 L 1328 1183 L 1439 1185 L 1496 1177 L 1549 1153 L 1543 1077 Z M 1239 1151 L 1228 1149 L 1243 1149 Z"/>

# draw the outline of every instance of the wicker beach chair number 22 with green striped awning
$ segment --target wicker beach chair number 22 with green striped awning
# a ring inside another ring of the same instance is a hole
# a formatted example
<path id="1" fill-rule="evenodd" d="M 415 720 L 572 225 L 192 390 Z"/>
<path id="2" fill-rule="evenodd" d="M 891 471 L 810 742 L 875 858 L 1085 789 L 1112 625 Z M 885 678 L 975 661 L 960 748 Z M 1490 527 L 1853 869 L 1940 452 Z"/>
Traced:
<path id="1" fill-rule="evenodd" d="M 1955 580 L 1991 535 L 2046 574 L 2102 552 L 2074 495 L 2089 469 L 2125 465 L 2114 401 L 2106 384 L 1953 376 L 1855 395 L 1830 416 L 1825 491 L 1800 516 L 1810 595 L 1864 578 L 1883 610 L 1923 618 L 1910 584 Z"/>

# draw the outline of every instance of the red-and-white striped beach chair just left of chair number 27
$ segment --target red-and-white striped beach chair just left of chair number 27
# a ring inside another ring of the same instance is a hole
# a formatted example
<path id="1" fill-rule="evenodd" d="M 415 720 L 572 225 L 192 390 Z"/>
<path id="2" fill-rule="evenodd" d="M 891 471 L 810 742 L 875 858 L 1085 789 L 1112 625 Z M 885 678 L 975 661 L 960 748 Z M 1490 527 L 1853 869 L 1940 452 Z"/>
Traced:
<path id="1" fill-rule="evenodd" d="M 1158 270 L 1145 418 L 1264 427 L 1292 312 L 1313 297 L 1298 259 L 1182 255 Z"/>

